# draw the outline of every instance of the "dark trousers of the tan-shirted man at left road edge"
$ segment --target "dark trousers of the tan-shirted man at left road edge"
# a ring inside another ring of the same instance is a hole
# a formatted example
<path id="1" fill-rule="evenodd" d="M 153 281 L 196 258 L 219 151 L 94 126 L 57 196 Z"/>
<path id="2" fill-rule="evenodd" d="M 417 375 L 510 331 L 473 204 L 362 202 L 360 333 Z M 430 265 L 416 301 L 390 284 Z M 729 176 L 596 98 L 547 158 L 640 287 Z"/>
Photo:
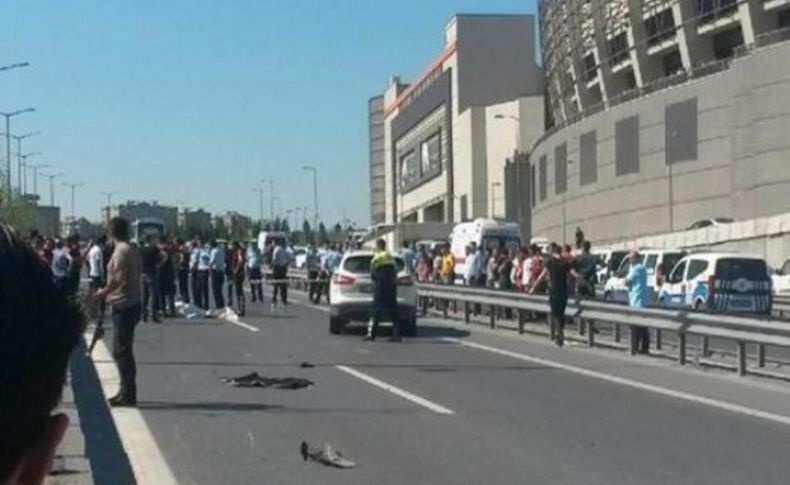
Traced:
<path id="1" fill-rule="evenodd" d="M 137 363 L 134 360 L 134 329 L 140 321 L 139 303 L 126 308 L 112 309 L 112 356 L 121 377 L 120 396 L 137 399 Z"/>

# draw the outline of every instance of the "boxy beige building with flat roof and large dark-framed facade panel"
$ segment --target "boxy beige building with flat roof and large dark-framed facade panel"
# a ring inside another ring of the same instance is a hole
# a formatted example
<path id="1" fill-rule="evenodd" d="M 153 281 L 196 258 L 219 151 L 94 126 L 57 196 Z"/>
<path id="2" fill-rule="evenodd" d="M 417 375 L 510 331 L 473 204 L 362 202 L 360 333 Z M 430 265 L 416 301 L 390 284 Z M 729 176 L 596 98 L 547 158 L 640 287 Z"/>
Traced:
<path id="1" fill-rule="evenodd" d="M 385 223 L 504 214 L 504 202 L 496 205 L 506 159 L 544 125 L 535 52 L 532 16 L 458 15 L 416 80 L 391 78 L 383 98 Z M 375 135 L 371 128 L 371 153 Z M 374 188 L 371 179 L 372 195 Z"/>

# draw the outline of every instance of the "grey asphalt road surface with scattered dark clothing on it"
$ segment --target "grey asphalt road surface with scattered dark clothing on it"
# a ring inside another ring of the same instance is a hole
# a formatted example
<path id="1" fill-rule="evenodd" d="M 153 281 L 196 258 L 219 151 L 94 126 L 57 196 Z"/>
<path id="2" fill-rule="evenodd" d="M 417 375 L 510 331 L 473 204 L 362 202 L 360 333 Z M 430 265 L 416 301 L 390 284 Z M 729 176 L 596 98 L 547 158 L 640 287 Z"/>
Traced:
<path id="1" fill-rule="evenodd" d="M 787 483 L 782 384 L 433 319 L 418 338 L 366 343 L 330 336 L 325 309 L 250 310 L 247 327 L 139 328 L 140 409 L 180 483 Z M 252 371 L 315 386 L 221 382 Z M 358 467 L 304 463 L 302 440 L 329 442 Z"/>

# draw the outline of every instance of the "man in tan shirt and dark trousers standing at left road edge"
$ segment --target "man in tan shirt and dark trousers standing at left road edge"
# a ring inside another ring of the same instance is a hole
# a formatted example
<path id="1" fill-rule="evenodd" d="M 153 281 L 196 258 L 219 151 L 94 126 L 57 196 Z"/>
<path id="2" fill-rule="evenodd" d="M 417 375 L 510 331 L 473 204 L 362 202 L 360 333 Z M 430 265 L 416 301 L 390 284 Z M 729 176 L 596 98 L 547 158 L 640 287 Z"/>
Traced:
<path id="1" fill-rule="evenodd" d="M 143 264 L 140 251 L 129 244 L 129 222 L 120 217 L 110 221 L 115 250 L 107 265 L 107 286 L 96 292 L 112 306 L 113 349 L 121 386 L 108 402 L 113 407 L 137 405 L 137 364 L 134 360 L 134 329 L 140 322 L 140 282 Z"/>

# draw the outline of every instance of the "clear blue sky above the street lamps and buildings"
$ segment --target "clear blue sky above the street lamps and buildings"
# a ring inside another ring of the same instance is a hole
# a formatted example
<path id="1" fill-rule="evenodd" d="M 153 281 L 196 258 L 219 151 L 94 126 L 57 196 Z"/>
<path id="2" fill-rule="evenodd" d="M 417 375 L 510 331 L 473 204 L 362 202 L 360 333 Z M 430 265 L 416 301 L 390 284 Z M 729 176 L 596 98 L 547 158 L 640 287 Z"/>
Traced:
<path id="1" fill-rule="evenodd" d="M 275 206 L 312 218 L 312 165 L 320 218 L 364 225 L 367 100 L 390 75 L 417 76 L 452 15 L 534 12 L 534 0 L 9 0 L 0 65 L 30 67 L 0 72 L 0 111 L 36 109 L 11 132 L 40 130 L 23 152 L 84 184 L 77 216 L 98 220 L 110 191 L 257 217 L 253 188 L 272 178 Z M 48 203 L 43 178 L 38 190 Z M 55 195 L 70 215 L 69 189 Z"/>

